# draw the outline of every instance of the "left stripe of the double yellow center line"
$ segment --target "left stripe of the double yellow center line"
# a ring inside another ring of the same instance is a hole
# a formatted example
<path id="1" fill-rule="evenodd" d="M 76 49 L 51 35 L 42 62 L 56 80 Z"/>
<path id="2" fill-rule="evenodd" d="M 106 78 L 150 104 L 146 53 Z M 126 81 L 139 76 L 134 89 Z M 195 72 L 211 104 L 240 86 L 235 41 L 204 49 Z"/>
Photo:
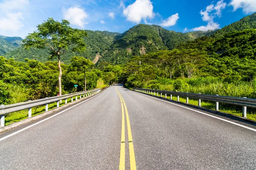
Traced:
<path id="1" fill-rule="evenodd" d="M 117 91 L 117 89 L 116 89 Z M 125 170 L 125 113 L 124 107 L 122 104 L 122 99 L 119 93 L 117 92 L 122 106 L 122 133 L 121 133 L 121 150 L 120 150 L 120 161 L 119 161 L 119 170 Z"/>

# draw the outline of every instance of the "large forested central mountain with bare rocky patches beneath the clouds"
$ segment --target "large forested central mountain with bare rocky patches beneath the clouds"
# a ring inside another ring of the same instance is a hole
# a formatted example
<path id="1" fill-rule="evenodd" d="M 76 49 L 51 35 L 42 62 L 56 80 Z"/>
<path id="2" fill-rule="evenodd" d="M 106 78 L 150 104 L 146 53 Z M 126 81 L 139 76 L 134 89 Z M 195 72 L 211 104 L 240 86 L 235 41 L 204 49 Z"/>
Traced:
<path id="1" fill-rule="evenodd" d="M 140 56 L 157 50 L 172 50 L 180 43 L 195 40 L 209 32 L 180 33 L 168 31 L 160 26 L 139 24 L 125 31 L 100 61 L 113 64 L 126 63 L 131 56 Z"/>

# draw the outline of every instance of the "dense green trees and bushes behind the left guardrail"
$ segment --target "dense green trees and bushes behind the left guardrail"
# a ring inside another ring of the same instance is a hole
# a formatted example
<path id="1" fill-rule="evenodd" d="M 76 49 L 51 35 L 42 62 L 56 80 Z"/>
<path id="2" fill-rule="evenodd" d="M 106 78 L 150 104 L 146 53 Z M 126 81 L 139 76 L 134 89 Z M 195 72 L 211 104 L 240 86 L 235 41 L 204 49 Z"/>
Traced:
<path id="1" fill-rule="evenodd" d="M 84 61 L 86 60 L 86 61 Z M 87 62 L 92 67 L 83 72 L 79 63 Z M 121 67 L 108 65 L 100 70 L 84 57 L 73 57 L 70 65 L 61 64 L 62 92 L 69 94 L 84 90 L 84 74 L 87 79 L 87 90 L 105 88 L 118 80 Z M 16 62 L 14 59 L 0 57 L 0 104 L 13 104 L 29 99 L 41 99 L 58 94 L 58 62 L 25 59 Z"/>

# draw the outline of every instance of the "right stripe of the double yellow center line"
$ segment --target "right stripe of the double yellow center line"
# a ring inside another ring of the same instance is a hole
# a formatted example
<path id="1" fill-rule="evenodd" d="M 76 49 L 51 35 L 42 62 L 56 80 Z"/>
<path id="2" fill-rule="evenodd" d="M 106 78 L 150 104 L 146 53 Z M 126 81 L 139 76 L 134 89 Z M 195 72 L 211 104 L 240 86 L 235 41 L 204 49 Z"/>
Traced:
<path id="1" fill-rule="evenodd" d="M 119 91 L 116 89 L 120 99 L 122 98 L 122 95 L 119 93 Z M 132 135 L 131 135 L 131 125 L 130 125 L 130 120 L 129 120 L 129 115 L 127 111 L 127 107 L 125 105 L 125 100 L 122 98 L 121 103 L 125 106 L 125 116 L 126 116 L 126 123 L 127 123 L 127 130 L 128 130 L 128 142 L 129 142 L 129 155 L 130 155 L 130 167 L 131 170 L 137 170 L 136 167 L 136 161 L 135 161 L 135 153 L 134 153 L 134 145 L 132 141 Z M 120 169 L 120 167 L 119 167 Z"/>

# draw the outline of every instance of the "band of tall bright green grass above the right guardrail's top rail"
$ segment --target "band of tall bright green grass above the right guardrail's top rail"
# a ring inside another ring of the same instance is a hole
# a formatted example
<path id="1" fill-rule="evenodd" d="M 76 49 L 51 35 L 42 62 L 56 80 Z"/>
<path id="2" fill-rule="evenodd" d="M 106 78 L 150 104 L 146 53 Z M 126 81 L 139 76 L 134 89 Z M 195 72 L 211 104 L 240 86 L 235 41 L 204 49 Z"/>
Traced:
<path id="1" fill-rule="evenodd" d="M 179 86 L 177 88 L 177 86 Z M 239 81 L 236 83 L 224 82 L 217 77 L 198 77 L 193 79 L 168 79 L 159 78 L 145 83 L 143 88 L 157 90 L 180 91 L 201 93 L 220 96 L 234 96 L 256 98 L 255 87 L 250 87 L 250 82 Z"/>

